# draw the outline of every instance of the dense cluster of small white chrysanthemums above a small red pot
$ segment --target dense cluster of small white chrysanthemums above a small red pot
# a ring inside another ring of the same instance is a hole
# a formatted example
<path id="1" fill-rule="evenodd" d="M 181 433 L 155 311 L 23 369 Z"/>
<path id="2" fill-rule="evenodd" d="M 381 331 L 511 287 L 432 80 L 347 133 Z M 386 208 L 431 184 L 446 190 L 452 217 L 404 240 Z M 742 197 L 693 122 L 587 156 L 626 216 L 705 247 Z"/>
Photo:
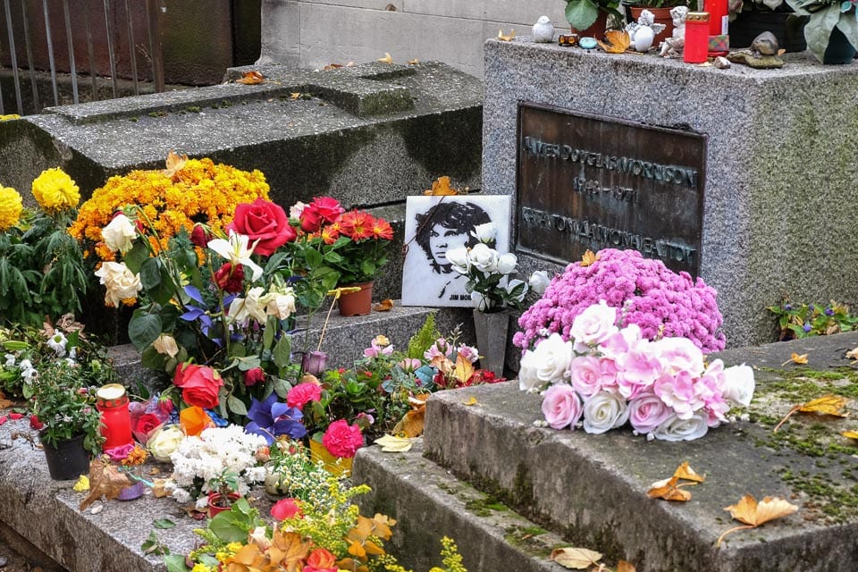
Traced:
<path id="1" fill-rule="evenodd" d="M 209 492 L 208 482 L 230 471 L 241 477 L 239 493 L 247 494 L 249 485 L 265 480 L 265 467 L 258 466 L 256 454 L 266 445 L 264 437 L 244 433 L 239 425 L 211 427 L 199 436 L 185 437 L 170 456 L 172 477 L 166 490 L 176 501 L 187 502 L 189 489 L 198 484 L 195 480 L 202 480 L 202 492 Z"/>

